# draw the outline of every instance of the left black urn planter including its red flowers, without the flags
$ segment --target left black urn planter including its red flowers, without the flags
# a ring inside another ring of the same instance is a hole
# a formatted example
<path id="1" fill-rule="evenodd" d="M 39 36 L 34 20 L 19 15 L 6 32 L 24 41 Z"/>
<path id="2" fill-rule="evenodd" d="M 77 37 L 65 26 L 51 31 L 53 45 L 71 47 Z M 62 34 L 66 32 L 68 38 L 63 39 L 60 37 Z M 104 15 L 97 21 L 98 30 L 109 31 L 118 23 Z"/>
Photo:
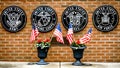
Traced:
<path id="1" fill-rule="evenodd" d="M 44 61 L 44 59 L 47 57 L 47 53 L 50 47 L 50 39 L 45 39 L 42 41 L 42 39 L 39 39 L 36 44 L 38 57 L 40 58 L 40 61 L 37 63 L 38 65 L 47 65 L 48 63 Z"/>

